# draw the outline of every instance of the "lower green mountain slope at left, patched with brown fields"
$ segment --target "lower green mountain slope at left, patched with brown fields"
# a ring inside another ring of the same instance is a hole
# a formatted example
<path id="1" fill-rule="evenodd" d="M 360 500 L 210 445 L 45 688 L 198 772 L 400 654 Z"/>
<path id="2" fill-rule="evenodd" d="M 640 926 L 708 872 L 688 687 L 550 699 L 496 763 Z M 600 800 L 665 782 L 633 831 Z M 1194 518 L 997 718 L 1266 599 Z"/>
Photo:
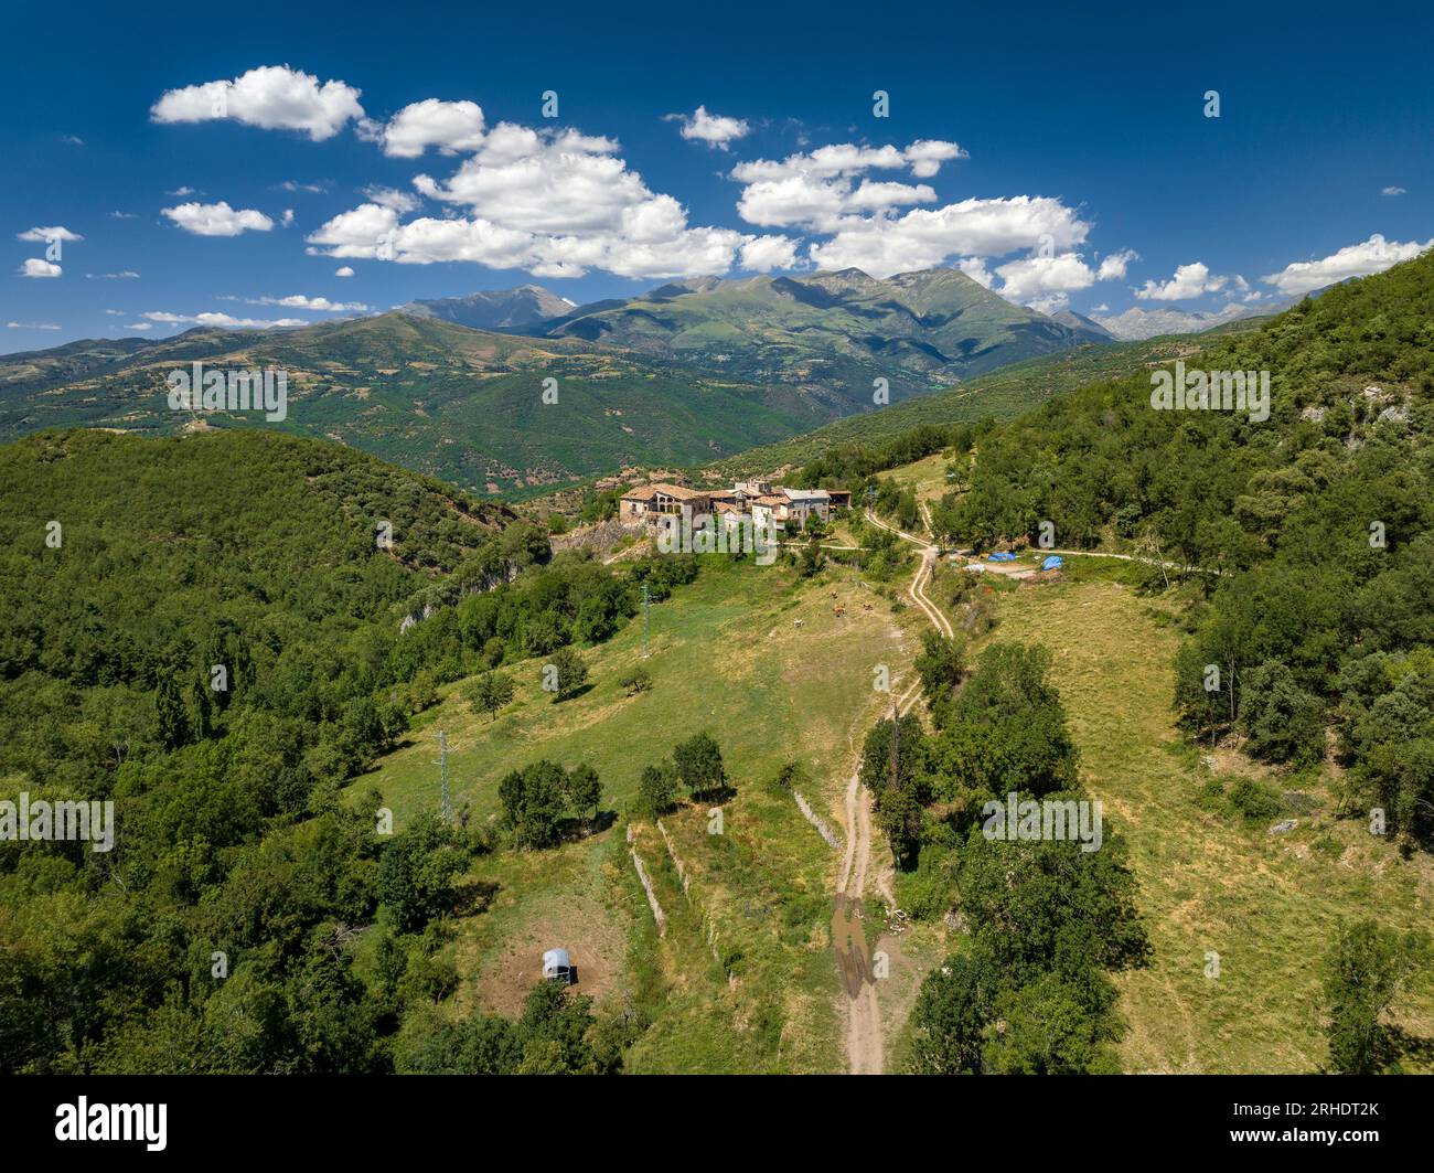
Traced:
<path id="1" fill-rule="evenodd" d="M 792 386 L 756 387 L 579 340 L 492 334 L 397 313 L 76 347 L 59 358 L 0 361 L 0 439 L 73 424 L 142 434 L 262 426 L 512 496 L 635 462 L 703 463 L 836 414 Z M 171 410 L 165 377 L 195 360 L 285 370 L 287 419 Z M 545 379 L 556 380 L 556 403 L 542 399 Z"/>

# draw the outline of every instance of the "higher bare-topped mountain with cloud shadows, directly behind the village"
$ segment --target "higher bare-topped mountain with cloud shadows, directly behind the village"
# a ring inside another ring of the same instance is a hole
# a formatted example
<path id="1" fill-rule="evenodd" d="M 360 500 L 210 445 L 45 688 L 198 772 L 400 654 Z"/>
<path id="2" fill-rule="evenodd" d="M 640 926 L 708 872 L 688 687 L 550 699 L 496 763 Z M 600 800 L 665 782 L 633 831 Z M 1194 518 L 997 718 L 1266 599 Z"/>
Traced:
<path id="1" fill-rule="evenodd" d="M 898 400 L 1100 338 L 948 268 L 885 281 L 859 270 L 700 278 L 585 307 L 546 333 L 820 389 L 843 414 L 872 403 L 875 379 L 886 379 Z"/>

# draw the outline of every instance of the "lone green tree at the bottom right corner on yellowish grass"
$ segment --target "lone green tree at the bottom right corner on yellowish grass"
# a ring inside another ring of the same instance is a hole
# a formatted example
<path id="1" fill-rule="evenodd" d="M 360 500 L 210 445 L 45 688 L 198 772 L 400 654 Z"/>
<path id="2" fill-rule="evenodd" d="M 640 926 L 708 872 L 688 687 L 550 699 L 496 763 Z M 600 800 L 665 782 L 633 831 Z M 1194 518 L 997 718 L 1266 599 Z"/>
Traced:
<path id="1" fill-rule="evenodd" d="M 1329 1065 L 1342 1075 L 1372 1075 L 1394 1060 L 1380 1022 L 1410 975 L 1428 964 L 1425 934 L 1398 934 L 1374 921 L 1342 931 L 1325 961 Z"/>

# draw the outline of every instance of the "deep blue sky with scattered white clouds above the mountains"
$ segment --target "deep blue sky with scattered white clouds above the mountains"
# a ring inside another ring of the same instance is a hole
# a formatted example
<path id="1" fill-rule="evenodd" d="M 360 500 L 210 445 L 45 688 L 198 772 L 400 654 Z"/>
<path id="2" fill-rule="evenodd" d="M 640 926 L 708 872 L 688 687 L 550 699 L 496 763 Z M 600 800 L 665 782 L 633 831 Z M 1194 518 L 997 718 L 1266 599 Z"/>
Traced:
<path id="1" fill-rule="evenodd" d="M 1233 313 L 1434 238 L 1427 6 L 1157 7 L 10 3 L 0 350 L 845 265 Z"/>

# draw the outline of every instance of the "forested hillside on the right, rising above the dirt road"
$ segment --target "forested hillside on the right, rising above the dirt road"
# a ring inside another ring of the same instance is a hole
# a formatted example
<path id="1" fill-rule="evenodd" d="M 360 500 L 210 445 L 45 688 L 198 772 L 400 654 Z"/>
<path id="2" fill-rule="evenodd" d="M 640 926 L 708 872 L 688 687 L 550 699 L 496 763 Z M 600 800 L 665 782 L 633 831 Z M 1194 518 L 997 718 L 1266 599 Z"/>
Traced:
<path id="1" fill-rule="evenodd" d="M 1192 733 L 1235 727 L 1275 763 L 1332 751 L 1349 810 L 1378 807 L 1390 835 L 1428 846 L 1434 257 L 1222 338 L 1199 366 L 1269 371 L 1269 419 L 1153 410 L 1149 374 L 1090 386 L 968 436 L 969 490 L 936 525 L 989 548 L 1048 521 L 1057 546 L 1174 564 L 1156 576 L 1202 568 L 1177 665 Z"/>

